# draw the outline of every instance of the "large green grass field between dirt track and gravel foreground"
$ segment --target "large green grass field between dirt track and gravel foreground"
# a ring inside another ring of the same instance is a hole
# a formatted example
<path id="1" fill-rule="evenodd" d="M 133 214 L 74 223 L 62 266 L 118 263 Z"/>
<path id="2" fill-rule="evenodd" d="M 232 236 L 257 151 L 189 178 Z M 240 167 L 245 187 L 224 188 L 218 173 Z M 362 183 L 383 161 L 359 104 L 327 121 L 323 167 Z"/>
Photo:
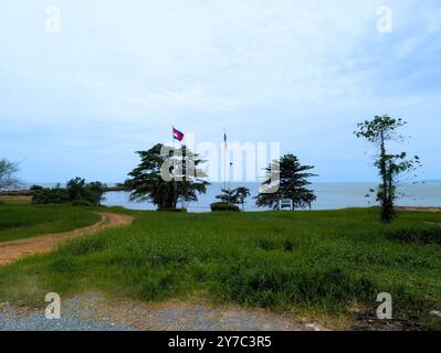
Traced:
<path id="1" fill-rule="evenodd" d="M 120 211 L 120 210 L 119 210 Z M 133 225 L 75 239 L 0 268 L 0 300 L 42 302 L 55 291 L 115 298 L 208 298 L 274 311 L 347 313 L 392 295 L 396 314 L 441 309 L 441 247 L 402 242 L 441 214 L 378 210 L 180 214 L 128 212 Z M 430 229 L 430 231 L 427 231 Z"/>

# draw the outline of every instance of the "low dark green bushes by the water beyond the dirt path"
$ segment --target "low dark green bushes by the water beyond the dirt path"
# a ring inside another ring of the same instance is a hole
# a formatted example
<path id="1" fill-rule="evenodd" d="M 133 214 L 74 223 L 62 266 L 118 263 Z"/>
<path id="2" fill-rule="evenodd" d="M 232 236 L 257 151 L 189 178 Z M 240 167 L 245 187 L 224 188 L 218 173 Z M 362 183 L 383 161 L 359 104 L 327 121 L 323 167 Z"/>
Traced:
<path id="1" fill-rule="evenodd" d="M 103 200 L 106 185 L 96 181 L 86 183 L 84 179 L 71 179 L 66 183 L 66 188 L 42 188 L 33 185 L 32 203 L 34 204 L 64 204 L 71 203 L 72 205 L 80 206 L 96 206 Z"/>

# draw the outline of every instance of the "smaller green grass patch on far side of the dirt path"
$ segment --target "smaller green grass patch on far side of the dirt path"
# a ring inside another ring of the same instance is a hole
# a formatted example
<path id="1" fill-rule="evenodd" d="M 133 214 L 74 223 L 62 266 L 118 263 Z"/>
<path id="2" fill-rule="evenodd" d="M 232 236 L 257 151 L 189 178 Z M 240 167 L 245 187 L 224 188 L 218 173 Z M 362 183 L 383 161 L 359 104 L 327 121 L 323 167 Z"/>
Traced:
<path id="1" fill-rule="evenodd" d="M 98 221 L 99 215 L 92 208 L 3 201 L 0 204 L 0 243 L 69 232 Z"/>

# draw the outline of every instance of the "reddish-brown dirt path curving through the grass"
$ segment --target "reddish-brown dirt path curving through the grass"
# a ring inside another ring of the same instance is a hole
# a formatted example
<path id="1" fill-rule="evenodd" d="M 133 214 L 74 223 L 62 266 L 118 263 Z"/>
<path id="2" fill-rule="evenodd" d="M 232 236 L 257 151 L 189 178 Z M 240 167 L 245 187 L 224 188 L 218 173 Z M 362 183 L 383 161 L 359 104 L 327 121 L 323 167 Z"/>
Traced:
<path id="1" fill-rule="evenodd" d="M 109 227 L 128 225 L 134 221 L 134 217 L 123 214 L 109 212 L 99 212 L 98 214 L 101 215 L 101 221 L 87 227 L 65 233 L 48 234 L 27 239 L 0 243 L 0 266 L 11 264 L 28 255 L 51 252 L 60 242 L 73 239 L 83 235 L 91 235 Z"/>

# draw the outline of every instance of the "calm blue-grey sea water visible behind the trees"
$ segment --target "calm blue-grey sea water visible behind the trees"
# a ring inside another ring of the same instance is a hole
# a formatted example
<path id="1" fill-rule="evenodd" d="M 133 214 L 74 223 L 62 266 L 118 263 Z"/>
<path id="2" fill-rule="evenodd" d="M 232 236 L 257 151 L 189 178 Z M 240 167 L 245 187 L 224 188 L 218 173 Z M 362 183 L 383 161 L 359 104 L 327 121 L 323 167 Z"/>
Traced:
<path id="1" fill-rule="evenodd" d="M 251 191 L 251 197 L 245 203 L 245 211 L 264 211 L 255 205 L 252 199 L 259 193 L 259 183 L 232 183 L 231 188 L 246 186 Z M 315 190 L 317 200 L 313 203 L 313 210 L 338 210 L 346 207 L 367 207 L 376 204 L 375 199 L 365 195 L 375 183 L 316 183 L 311 189 Z M 189 212 L 209 212 L 210 204 L 217 202 L 216 195 L 221 193 L 222 183 L 213 183 L 207 190 L 207 194 L 199 195 L 197 203 L 190 203 Z M 398 192 L 405 195 L 397 201 L 400 206 L 441 206 L 441 183 L 419 183 L 402 185 Z M 103 202 L 107 206 L 123 206 L 129 210 L 156 210 L 150 203 L 136 203 L 129 201 L 129 192 L 112 191 L 105 194 Z"/>

